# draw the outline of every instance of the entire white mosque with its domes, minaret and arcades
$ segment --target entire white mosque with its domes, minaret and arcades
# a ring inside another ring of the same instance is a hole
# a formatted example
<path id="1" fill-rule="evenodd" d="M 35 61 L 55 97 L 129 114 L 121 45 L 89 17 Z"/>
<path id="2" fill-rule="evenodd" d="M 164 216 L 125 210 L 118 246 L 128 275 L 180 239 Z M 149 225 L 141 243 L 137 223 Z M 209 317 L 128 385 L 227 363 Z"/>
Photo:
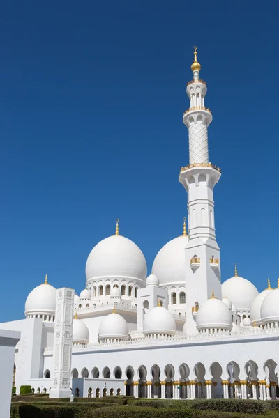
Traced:
<path id="1" fill-rule="evenodd" d="M 70 388 L 75 396 L 141 398 L 279 397 L 278 287 L 258 293 L 247 279 L 221 284 L 213 189 L 221 171 L 209 162 L 206 82 L 197 48 L 183 114 L 188 166 L 179 182 L 188 193 L 182 235 L 158 252 L 146 277 L 144 254 L 121 235 L 98 242 L 86 261 L 86 288 L 74 297 Z M 15 387 L 50 392 L 54 373 L 56 289 L 45 282 L 25 302 L 25 318 L 2 323 L 21 332 Z M 61 347 L 63 351 L 63 347 Z"/>

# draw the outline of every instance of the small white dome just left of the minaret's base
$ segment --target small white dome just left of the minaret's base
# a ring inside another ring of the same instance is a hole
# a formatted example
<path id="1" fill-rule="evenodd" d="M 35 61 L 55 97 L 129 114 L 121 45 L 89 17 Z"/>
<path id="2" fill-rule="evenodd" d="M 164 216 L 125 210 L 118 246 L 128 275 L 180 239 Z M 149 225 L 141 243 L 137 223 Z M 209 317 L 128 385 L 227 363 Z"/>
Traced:
<path id="1" fill-rule="evenodd" d="M 172 314 L 162 306 L 147 311 L 144 318 L 144 334 L 174 335 L 176 332 L 175 320 Z"/>

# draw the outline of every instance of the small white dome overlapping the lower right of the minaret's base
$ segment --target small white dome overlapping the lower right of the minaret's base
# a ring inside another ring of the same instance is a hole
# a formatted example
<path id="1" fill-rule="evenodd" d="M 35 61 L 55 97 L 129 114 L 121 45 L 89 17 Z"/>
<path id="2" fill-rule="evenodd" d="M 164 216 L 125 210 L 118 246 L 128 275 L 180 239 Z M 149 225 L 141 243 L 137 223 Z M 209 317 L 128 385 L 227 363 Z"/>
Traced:
<path id="1" fill-rule="evenodd" d="M 219 328 L 222 330 L 232 330 L 232 313 L 221 300 L 216 297 L 206 300 L 196 316 L 197 330 L 208 328 Z"/>

